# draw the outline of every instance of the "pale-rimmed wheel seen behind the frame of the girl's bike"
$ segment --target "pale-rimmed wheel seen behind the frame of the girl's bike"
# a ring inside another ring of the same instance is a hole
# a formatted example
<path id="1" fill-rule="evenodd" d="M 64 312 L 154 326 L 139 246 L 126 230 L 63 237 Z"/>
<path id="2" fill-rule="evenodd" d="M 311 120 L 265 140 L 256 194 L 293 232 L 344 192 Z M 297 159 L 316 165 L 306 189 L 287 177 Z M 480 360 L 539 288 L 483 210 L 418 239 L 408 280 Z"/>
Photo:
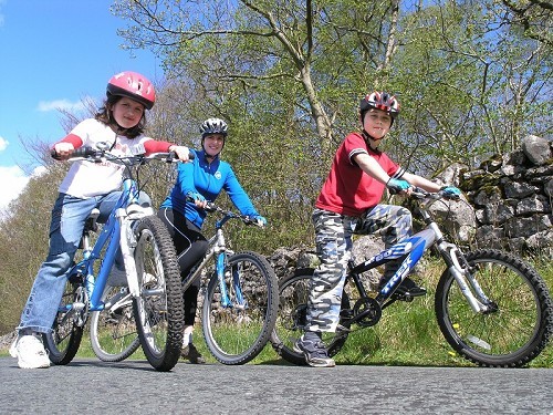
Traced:
<path id="1" fill-rule="evenodd" d="M 128 288 L 106 286 L 102 302 L 108 308 L 91 315 L 92 350 L 103 362 L 124 361 L 140 346 Z"/>

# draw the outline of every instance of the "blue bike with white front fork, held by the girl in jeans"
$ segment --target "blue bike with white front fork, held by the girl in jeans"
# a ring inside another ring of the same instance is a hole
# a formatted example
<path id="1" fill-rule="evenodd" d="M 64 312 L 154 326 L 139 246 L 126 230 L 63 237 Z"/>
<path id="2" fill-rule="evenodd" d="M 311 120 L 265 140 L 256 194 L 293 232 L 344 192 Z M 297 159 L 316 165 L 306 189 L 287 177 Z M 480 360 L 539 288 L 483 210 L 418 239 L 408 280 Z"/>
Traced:
<path id="1" fill-rule="evenodd" d="M 53 331 L 43 334 L 44 345 L 52 363 L 70 363 L 79 351 L 88 317 L 94 315 L 91 341 L 102 360 L 125 359 L 139 343 L 152 366 L 170 371 L 182 344 L 180 274 L 167 228 L 150 207 L 137 204 L 139 187 L 135 176 L 150 160 L 174 158 L 169 153 L 118 157 L 108 152 L 107 145 L 97 147 L 77 148 L 71 159 L 123 165 L 126 178 L 122 196 L 94 245 L 90 236 L 96 228 L 97 212 L 88 218 Z M 108 282 L 117 257 L 123 259 L 125 270 L 121 287 Z M 98 321 L 105 324 L 98 325 Z"/>

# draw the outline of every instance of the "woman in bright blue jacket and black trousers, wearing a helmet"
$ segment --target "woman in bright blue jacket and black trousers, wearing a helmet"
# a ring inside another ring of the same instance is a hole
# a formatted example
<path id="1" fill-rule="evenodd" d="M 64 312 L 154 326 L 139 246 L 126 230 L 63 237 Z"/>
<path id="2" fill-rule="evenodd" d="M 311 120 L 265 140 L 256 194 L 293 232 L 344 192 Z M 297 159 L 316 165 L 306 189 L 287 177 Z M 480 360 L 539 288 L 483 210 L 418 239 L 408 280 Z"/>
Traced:
<path id="1" fill-rule="evenodd" d="M 219 157 L 227 138 L 227 123 L 209 118 L 200 126 L 201 151 L 191 151 L 192 163 L 179 163 L 178 177 L 157 216 L 165 222 L 177 250 L 180 276 L 185 278 L 194 264 L 204 257 L 208 241 L 201 235 L 208 201 L 215 201 L 222 189 L 242 215 L 248 215 L 263 225 L 250 198 L 238 181 L 230 164 Z M 181 356 L 191 363 L 205 363 L 205 359 L 192 344 L 194 321 L 198 303 L 200 281 L 196 281 L 184 293 L 185 335 Z"/>

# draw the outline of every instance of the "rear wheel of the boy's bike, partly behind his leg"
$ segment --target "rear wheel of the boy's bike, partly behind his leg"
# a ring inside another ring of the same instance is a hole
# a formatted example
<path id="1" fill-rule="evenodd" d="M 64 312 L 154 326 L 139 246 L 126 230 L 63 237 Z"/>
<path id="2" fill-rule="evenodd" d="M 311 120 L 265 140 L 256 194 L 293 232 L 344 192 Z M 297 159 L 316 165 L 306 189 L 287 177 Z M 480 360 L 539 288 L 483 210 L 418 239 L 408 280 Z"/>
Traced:
<path id="1" fill-rule="evenodd" d="M 279 317 L 270 341 L 282 359 L 296 365 L 306 365 L 303 353 L 296 352 L 294 344 L 304 332 L 313 272 L 312 268 L 298 269 L 293 274 L 282 279 L 279 284 Z M 342 304 L 348 303 L 349 298 L 344 290 Z M 345 344 L 348 332 L 337 330 L 335 333 L 322 333 L 322 335 L 328 355 L 334 356 Z"/>

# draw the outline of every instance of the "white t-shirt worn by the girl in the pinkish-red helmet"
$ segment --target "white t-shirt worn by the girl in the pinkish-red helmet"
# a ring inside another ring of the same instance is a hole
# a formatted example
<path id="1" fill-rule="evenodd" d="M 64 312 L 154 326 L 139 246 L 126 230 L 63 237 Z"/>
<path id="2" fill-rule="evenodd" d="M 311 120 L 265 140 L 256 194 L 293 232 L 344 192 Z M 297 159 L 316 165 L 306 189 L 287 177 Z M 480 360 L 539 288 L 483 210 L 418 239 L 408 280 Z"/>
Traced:
<path id="1" fill-rule="evenodd" d="M 70 134 L 79 136 L 83 141 L 83 146 L 86 147 L 97 148 L 96 144 L 102 142 L 112 147 L 109 153 L 121 156 L 132 155 L 132 147 L 137 147 L 144 142 L 153 139 L 144 136 L 127 138 L 117 135 L 111 127 L 94 118 L 79 123 Z M 124 170 L 124 166 L 109 162 L 73 162 L 59 190 L 82 199 L 106 195 L 121 189 Z"/>

